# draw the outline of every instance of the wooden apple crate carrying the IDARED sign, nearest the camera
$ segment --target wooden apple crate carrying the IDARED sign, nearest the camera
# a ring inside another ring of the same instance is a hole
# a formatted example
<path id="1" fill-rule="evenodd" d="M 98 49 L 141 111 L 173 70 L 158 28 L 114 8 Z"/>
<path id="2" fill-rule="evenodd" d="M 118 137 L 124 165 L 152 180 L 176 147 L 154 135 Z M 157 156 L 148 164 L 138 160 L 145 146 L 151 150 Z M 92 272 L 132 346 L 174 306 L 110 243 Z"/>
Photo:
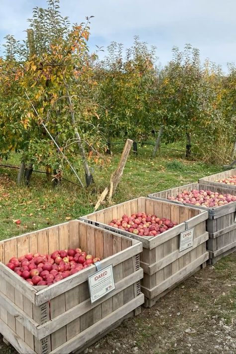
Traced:
<path id="1" fill-rule="evenodd" d="M 31 286 L 6 264 L 28 252 L 81 247 L 113 264 L 116 289 L 91 304 L 86 268 L 50 286 Z M 142 243 L 79 220 L 0 241 L 0 333 L 19 353 L 71 353 L 85 349 L 140 312 Z"/>

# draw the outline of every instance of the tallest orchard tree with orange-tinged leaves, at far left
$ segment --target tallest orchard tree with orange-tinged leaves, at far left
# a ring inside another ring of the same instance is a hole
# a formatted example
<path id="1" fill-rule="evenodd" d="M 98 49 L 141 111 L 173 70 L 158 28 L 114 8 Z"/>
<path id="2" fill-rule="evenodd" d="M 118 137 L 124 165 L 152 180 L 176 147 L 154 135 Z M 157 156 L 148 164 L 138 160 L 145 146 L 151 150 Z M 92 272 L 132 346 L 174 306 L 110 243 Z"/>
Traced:
<path id="1" fill-rule="evenodd" d="M 29 23 L 27 40 L 19 44 L 8 37 L 6 58 L 1 58 L 1 80 L 9 94 L 1 112 L 3 133 L 17 129 L 16 134 L 12 130 L 17 142 L 11 149 L 23 151 L 22 163 L 62 169 L 61 151 L 69 159 L 77 159 L 79 153 L 89 186 L 93 176 L 87 153 L 91 156 L 102 148 L 93 96 L 96 55 L 90 55 L 87 46 L 90 18 L 71 26 L 60 14 L 59 0 L 48 0 L 47 9 L 34 8 Z"/>

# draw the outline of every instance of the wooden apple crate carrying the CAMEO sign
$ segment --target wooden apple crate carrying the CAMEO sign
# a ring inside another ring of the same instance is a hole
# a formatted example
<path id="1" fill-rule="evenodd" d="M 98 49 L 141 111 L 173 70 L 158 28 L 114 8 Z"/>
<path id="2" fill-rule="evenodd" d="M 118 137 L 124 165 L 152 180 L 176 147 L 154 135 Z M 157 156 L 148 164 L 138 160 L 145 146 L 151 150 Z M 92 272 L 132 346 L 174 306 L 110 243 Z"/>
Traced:
<path id="1" fill-rule="evenodd" d="M 122 217 L 123 214 L 130 216 L 138 212 L 169 218 L 179 225 L 153 237 L 137 236 L 107 225 L 112 219 Z M 145 306 L 151 307 L 179 282 L 202 265 L 206 265 L 209 258 L 209 252 L 206 251 L 207 218 L 207 211 L 140 197 L 86 215 L 81 220 L 142 242 L 140 265 L 144 275 L 141 291 L 145 295 Z M 194 244 L 191 248 L 179 252 L 180 233 L 191 228 L 194 228 Z"/>

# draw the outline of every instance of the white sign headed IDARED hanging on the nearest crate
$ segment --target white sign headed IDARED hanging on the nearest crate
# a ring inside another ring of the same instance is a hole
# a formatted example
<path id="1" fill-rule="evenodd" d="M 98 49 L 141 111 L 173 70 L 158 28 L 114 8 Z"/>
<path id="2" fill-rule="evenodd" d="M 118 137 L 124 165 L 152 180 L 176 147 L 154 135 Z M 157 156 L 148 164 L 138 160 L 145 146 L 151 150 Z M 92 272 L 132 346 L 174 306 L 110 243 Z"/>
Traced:
<path id="1" fill-rule="evenodd" d="M 114 290 L 116 287 L 112 264 L 90 275 L 88 284 L 92 304 Z"/>

